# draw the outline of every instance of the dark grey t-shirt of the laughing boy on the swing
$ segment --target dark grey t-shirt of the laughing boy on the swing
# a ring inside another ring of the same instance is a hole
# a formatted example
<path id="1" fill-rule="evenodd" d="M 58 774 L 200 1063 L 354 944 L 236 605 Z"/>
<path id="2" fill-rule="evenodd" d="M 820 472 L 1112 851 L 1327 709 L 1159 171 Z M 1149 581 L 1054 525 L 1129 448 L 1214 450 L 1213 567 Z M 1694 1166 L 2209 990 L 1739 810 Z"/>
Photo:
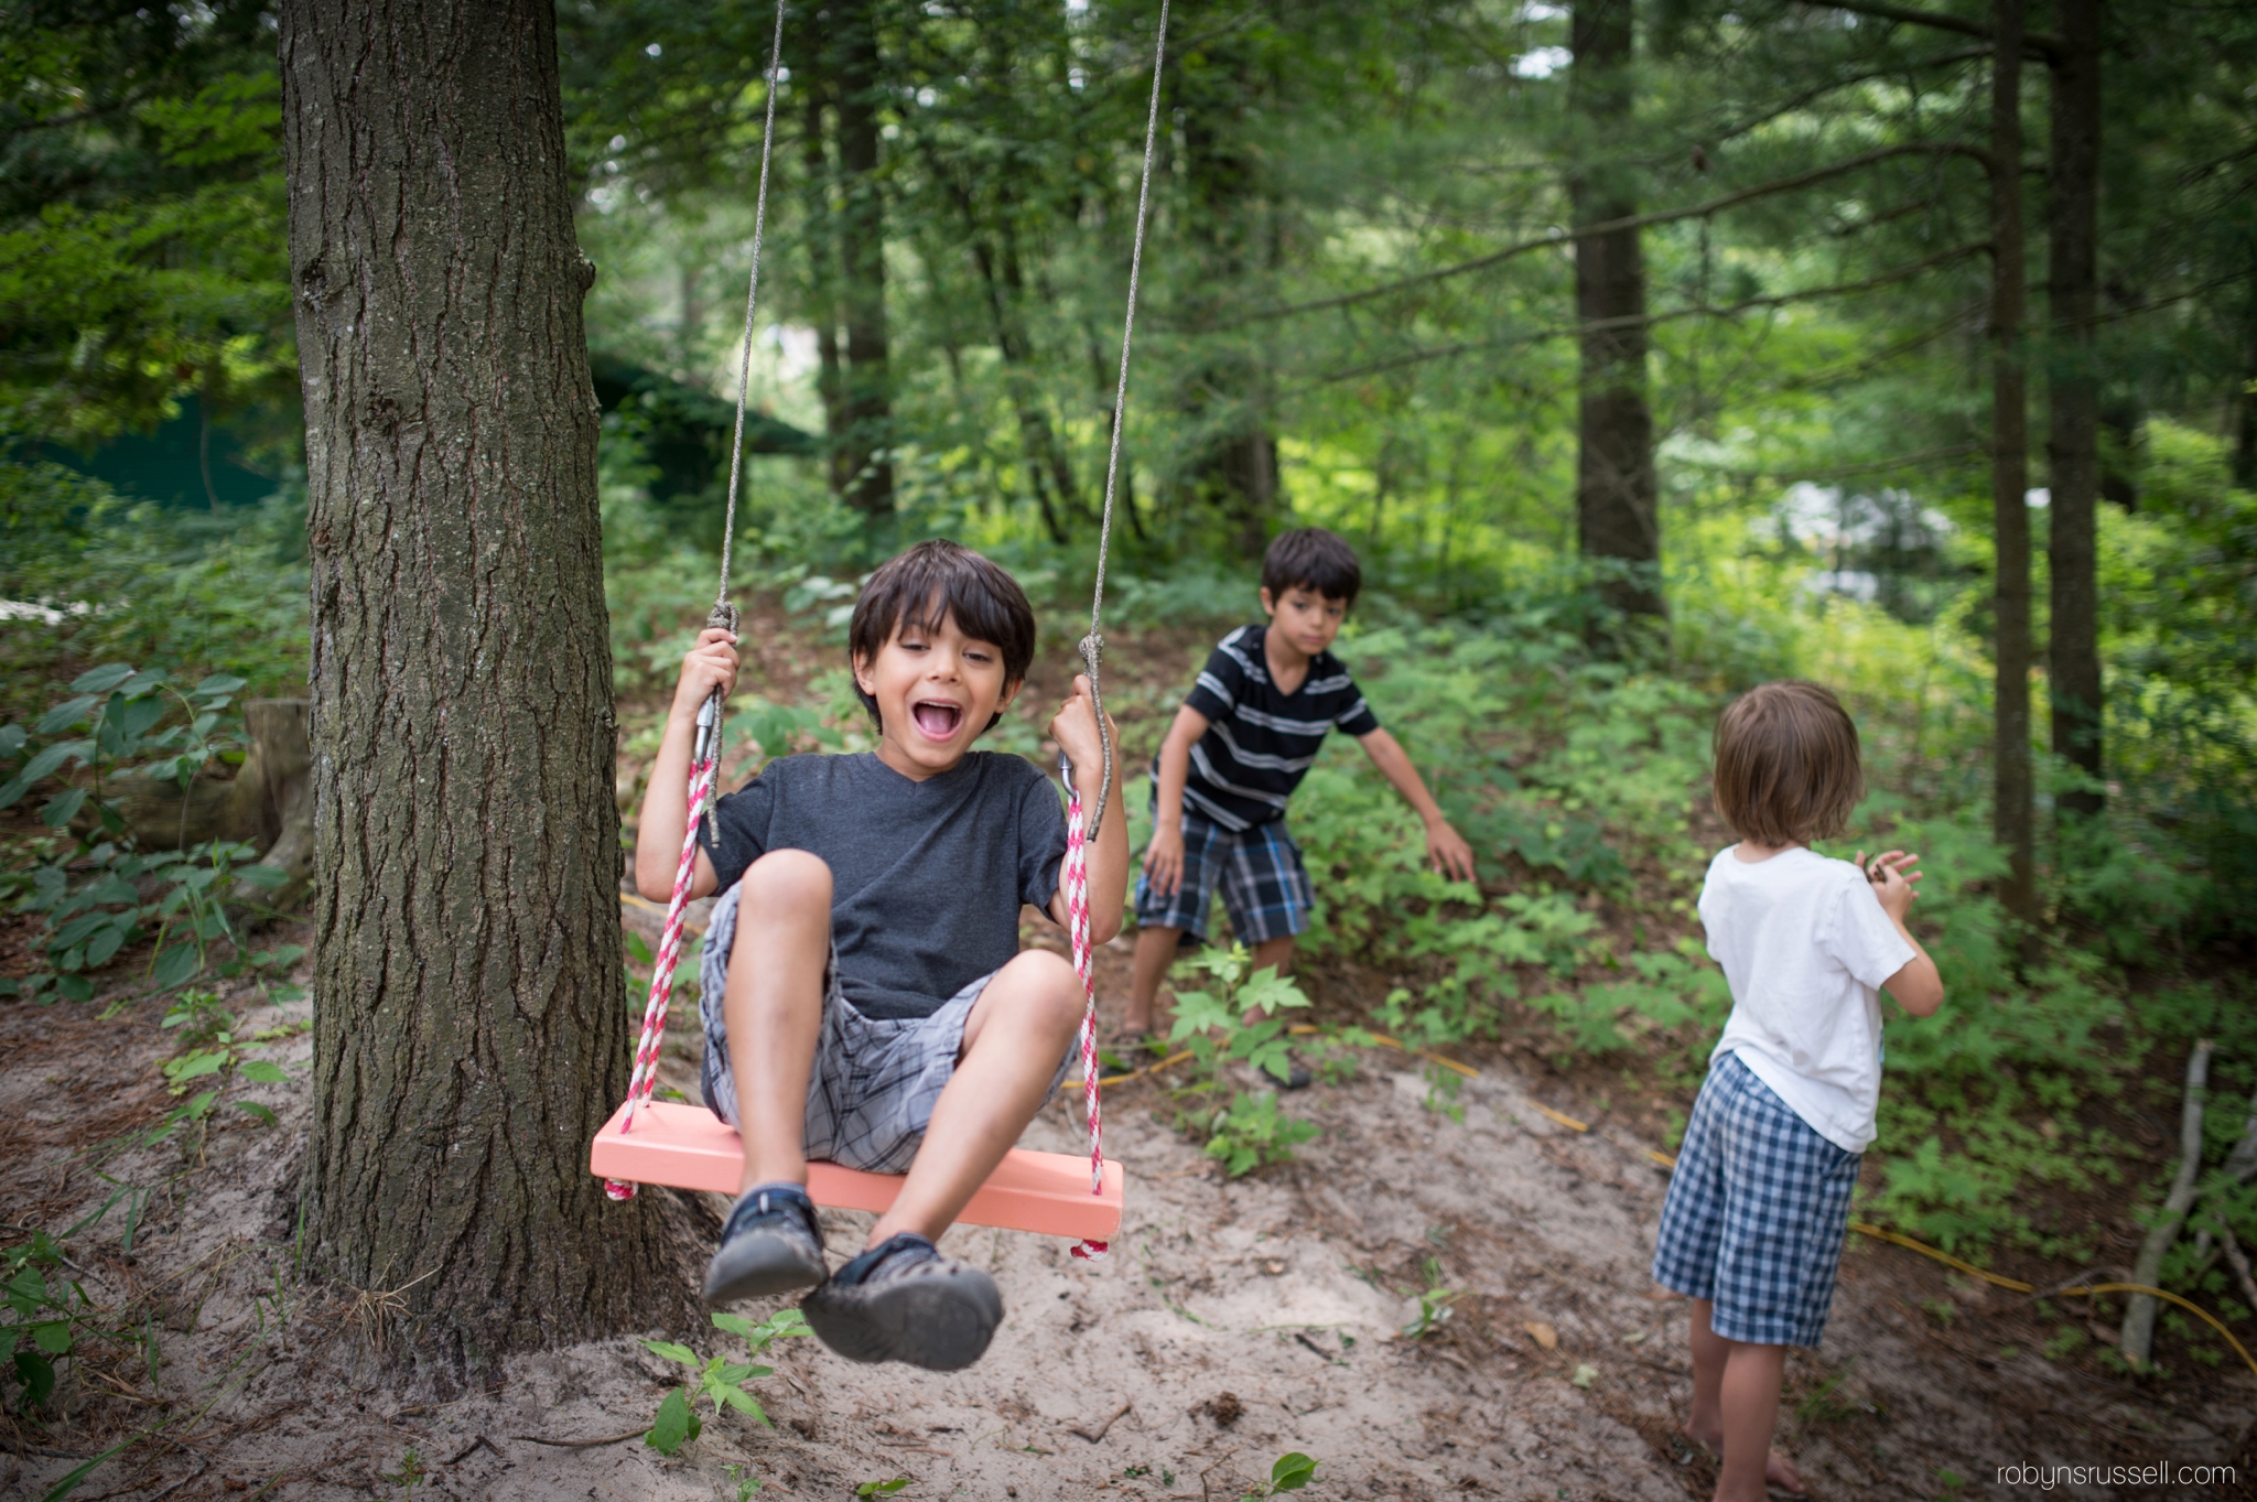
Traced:
<path id="1" fill-rule="evenodd" d="M 720 798 L 697 843 L 722 891 L 770 850 L 819 855 L 840 990 L 864 1017 L 930 1017 L 1018 954 L 1022 902 L 1050 907 L 1065 810 L 1004 751 L 923 783 L 869 751 L 785 756 Z"/>

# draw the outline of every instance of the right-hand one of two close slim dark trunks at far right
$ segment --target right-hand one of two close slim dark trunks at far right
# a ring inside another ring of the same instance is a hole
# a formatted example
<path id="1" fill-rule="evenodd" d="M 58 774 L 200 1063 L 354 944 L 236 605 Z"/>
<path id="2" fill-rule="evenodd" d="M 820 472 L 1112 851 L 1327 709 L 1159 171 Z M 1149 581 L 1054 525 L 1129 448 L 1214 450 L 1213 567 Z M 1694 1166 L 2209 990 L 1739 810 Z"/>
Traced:
<path id="1" fill-rule="evenodd" d="M 2099 580 L 2092 512 L 2099 498 L 2099 370 L 2092 313 L 2099 295 L 2101 7 L 2056 0 L 2054 142 L 2047 174 L 2049 313 L 2054 320 L 2047 404 L 2052 435 L 2052 704 L 2054 756 L 2101 776 Z M 2101 794 L 2063 794 L 2061 807 L 2097 814 Z"/>

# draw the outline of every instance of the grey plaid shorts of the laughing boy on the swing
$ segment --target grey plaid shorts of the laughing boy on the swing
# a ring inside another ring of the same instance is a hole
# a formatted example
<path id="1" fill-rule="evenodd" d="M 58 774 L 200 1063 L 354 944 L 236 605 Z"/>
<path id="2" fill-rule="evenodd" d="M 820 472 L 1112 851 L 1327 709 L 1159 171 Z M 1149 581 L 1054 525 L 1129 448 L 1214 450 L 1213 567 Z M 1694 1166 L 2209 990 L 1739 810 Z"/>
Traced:
<path id="1" fill-rule="evenodd" d="M 731 886 L 713 904 L 704 956 L 697 965 L 702 995 L 697 1017 L 704 1022 L 704 1098 L 706 1107 L 736 1125 L 736 1076 L 729 1069 L 729 1024 L 722 1015 L 729 952 L 736 945 L 736 907 L 743 886 Z M 815 1040 L 815 1076 L 808 1080 L 808 1112 L 801 1150 L 810 1159 L 864 1168 L 869 1173 L 907 1173 L 932 1107 L 957 1071 L 964 1051 L 964 1024 L 980 992 L 995 979 L 989 972 L 952 995 L 930 1017 L 864 1017 L 840 992 L 837 949 L 824 968 L 824 1026 Z M 1050 1089 L 1059 1089 L 1068 1049 Z"/>

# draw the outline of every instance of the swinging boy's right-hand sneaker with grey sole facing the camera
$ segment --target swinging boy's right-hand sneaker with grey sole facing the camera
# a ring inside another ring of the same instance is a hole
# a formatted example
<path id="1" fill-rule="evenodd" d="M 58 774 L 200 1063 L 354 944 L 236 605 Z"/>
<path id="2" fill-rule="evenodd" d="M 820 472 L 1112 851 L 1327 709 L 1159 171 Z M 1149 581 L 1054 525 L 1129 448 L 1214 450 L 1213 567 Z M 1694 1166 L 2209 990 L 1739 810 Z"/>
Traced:
<path id="1" fill-rule="evenodd" d="M 995 1279 L 903 1231 L 831 1274 L 799 1313 L 851 1362 L 971 1367 L 1002 1324 Z"/>

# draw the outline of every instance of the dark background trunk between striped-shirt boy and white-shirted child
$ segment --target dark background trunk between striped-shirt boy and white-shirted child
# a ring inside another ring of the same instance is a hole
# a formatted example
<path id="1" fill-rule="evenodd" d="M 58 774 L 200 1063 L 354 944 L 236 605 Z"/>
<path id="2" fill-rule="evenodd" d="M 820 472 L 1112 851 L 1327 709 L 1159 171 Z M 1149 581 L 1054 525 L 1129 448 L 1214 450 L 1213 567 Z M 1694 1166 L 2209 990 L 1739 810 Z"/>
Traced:
<path id="1" fill-rule="evenodd" d="M 1571 38 L 1578 160 L 1569 196 L 1575 223 L 1627 219 L 1639 212 L 1627 160 L 1632 0 L 1575 0 Z M 1584 325 L 1575 532 L 1584 559 L 1621 571 L 1602 582 L 1611 607 L 1661 616 L 1654 417 L 1645 404 L 1645 262 L 1636 230 L 1575 239 L 1575 318 Z"/>

